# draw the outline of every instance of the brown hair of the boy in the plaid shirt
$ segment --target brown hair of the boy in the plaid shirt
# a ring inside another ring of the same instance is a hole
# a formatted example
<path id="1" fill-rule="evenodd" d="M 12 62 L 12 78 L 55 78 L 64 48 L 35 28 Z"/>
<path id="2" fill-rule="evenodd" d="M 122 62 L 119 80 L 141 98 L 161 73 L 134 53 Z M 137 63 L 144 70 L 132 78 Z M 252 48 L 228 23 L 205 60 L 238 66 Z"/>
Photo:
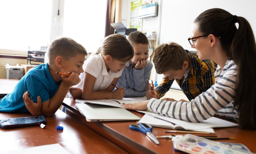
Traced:
<path id="1" fill-rule="evenodd" d="M 155 50 L 153 62 L 156 72 L 162 74 L 168 70 L 182 69 L 184 61 L 187 61 L 187 53 L 179 44 L 170 42 L 161 44 Z"/>

